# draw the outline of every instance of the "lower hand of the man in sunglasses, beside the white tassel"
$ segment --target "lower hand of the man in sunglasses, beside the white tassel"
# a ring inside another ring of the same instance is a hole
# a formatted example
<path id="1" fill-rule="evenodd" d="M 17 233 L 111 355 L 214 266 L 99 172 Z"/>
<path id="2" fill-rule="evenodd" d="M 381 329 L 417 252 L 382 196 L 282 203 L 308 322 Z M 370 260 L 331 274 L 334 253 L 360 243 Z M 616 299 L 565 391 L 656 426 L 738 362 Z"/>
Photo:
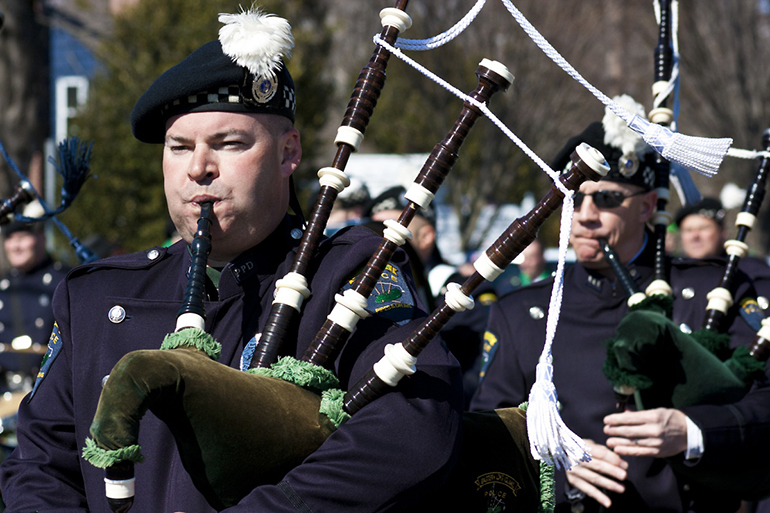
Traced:
<path id="1" fill-rule="evenodd" d="M 626 479 L 628 462 L 604 445 L 584 440 L 591 453 L 591 461 L 581 462 L 567 471 L 567 481 L 588 497 L 595 499 L 605 508 L 612 506 L 606 491 L 623 493 L 622 481 Z"/>

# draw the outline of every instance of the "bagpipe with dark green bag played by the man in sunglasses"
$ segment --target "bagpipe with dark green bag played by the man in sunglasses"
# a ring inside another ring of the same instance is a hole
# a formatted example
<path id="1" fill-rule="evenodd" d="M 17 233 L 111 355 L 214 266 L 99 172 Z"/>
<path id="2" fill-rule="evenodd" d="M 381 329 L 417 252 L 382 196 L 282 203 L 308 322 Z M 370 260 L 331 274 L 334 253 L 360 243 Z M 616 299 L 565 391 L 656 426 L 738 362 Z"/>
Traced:
<path id="1" fill-rule="evenodd" d="M 655 108 L 650 121 L 670 125 L 673 111 L 666 106 L 670 92 L 673 56 L 671 42 L 671 4 L 660 1 L 660 26 L 655 47 Z M 762 136 L 762 146 L 770 147 L 770 131 Z M 753 378 L 764 370 L 767 360 L 766 321 L 750 347 L 728 348 L 729 335 L 720 328 L 733 306 L 734 280 L 740 259 L 748 254 L 746 237 L 756 221 L 765 195 L 770 161 L 761 157 L 754 181 L 736 219 L 738 233 L 725 242 L 728 254 L 723 277 L 708 295 L 706 317 L 701 330 L 683 333 L 671 320 L 671 286 L 667 283 L 665 256 L 666 227 L 671 215 L 665 211 L 668 201 L 668 177 L 671 164 L 656 155 L 657 212 L 655 225 L 655 268 L 652 283 L 642 292 L 627 276 L 612 249 L 602 244 L 608 262 L 629 296 L 629 314 L 618 326 L 618 335 L 608 342 L 604 372 L 616 392 L 628 396 L 637 392 L 638 406 L 682 408 L 694 404 L 728 404 L 745 395 Z M 622 399 L 621 399 L 622 401 Z"/>

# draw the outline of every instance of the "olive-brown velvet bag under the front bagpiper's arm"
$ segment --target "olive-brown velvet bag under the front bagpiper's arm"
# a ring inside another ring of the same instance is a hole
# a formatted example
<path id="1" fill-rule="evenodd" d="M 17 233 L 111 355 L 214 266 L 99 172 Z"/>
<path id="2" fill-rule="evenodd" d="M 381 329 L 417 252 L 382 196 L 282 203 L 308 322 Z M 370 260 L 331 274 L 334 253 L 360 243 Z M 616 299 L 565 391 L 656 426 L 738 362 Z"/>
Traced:
<path id="1" fill-rule="evenodd" d="M 276 483 L 334 431 L 320 395 L 179 347 L 135 351 L 113 368 L 91 436 L 102 449 L 137 444 L 147 410 L 164 421 L 193 483 L 217 510 Z M 286 405 L 291 405 L 287 408 Z"/>

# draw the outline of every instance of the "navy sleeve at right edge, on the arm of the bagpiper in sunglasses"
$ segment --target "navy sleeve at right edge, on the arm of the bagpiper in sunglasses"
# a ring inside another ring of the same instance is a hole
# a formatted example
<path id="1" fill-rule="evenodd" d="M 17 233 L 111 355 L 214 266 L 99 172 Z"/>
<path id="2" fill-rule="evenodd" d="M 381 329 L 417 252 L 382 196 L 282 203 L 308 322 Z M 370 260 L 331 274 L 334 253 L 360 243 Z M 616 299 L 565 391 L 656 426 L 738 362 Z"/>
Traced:
<path id="1" fill-rule="evenodd" d="M 741 299 L 753 297 L 754 289 L 745 276 L 738 280 L 736 303 L 740 304 Z M 754 330 L 740 314 L 734 316 L 729 332 L 733 346 L 754 341 Z M 770 493 L 770 370 L 766 369 L 737 403 L 692 406 L 683 411 L 703 432 L 704 454 L 695 465 L 675 462 L 680 473 L 746 499 Z"/>

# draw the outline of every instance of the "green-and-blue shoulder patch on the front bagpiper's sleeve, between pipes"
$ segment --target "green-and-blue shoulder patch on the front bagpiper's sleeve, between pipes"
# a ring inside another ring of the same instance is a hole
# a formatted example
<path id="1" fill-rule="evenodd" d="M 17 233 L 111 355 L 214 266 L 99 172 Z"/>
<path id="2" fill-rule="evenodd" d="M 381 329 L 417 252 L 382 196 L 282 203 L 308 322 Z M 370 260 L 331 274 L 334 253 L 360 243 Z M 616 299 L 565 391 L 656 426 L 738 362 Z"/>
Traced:
<path id="1" fill-rule="evenodd" d="M 355 276 L 345 283 L 343 290 L 351 288 L 354 281 Z M 414 298 L 404 279 L 403 272 L 397 265 L 389 263 L 380 274 L 380 278 L 367 300 L 366 310 L 372 315 L 388 319 L 399 325 L 412 320 Z"/>

